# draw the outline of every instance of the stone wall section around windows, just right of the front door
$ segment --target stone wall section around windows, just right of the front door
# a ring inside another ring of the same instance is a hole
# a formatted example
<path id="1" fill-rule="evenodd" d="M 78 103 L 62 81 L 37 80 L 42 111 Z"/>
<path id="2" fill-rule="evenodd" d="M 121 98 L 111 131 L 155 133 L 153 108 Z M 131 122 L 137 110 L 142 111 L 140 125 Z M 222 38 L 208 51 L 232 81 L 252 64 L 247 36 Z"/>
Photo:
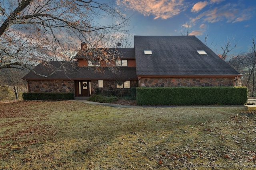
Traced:
<path id="1" fill-rule="evenodd" d="M 137 80 L 130 80 L 130 88 L 138 87 Z M 130 88 L 116 88 L 115 80 L 103 80 L 103 88 L 98 87 L 98 80 L 91 81 L 91 91 L 93 94 L 104 94 L 104 95 L 113 95 L 113 96 L 121 96 L 121 95 L 129 95 Z"/>

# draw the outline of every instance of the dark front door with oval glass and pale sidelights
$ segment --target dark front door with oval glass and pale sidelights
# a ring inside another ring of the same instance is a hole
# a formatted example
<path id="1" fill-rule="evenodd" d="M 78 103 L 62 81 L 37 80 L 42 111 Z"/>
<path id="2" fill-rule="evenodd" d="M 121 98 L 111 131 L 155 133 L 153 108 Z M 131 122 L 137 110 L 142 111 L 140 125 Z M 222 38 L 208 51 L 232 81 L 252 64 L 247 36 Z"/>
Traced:
<path id="1" fill-rule="evenodd" d="M 75 95 L 80 97 L 89 97 L 90 95 L 90 81 L 76 80 L 75 81 Z"/>

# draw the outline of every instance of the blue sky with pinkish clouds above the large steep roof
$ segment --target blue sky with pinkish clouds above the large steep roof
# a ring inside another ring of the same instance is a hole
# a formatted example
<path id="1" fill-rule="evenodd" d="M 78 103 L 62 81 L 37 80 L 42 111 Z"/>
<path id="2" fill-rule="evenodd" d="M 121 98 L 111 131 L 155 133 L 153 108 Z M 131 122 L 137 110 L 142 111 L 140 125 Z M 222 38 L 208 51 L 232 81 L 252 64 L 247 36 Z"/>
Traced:
<path id="1" fill-rule="evenodd" d="M 230 41 L 231 54 L 245 53 L 256 39 L 256 0 L 108 0 L 130 18 L 132 35 L 190 35 L 221 54 Z"/>

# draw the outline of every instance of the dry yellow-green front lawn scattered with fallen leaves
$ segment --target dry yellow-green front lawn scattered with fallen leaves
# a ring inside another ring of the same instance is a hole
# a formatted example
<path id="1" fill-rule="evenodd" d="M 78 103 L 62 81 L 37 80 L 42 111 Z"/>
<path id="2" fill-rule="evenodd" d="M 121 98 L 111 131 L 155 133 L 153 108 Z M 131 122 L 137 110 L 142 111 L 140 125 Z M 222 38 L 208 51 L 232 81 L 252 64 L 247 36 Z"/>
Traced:
<path id="1" fill-rule="evenodd" d="M 0 104 L 0 170 L 254 169 L 255 141 L 247 107 Z"/>

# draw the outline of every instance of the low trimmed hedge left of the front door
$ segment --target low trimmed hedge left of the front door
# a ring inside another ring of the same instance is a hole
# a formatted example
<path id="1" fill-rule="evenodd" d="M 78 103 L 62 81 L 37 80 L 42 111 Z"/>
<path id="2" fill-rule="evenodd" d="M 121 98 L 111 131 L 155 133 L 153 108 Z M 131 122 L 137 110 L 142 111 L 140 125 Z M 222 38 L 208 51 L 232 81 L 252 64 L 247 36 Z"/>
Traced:
<path id="1" fill-rule="evenodd" d="M 23 93 L 23 100 L 74 100 L 74 93 Z"/>

